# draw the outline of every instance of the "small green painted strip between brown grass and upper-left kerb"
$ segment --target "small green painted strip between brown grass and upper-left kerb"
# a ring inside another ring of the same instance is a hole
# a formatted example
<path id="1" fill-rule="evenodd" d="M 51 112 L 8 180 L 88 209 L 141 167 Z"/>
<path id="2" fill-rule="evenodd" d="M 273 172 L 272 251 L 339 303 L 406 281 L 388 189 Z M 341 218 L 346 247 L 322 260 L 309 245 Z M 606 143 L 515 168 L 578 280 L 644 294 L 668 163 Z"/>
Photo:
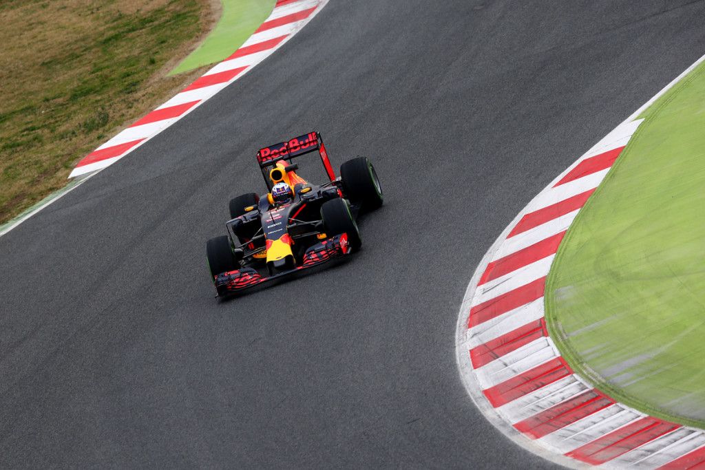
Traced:
<path id="1" fill-rule="evenodd" d="M 276 0 L 221 0 L 223 13 L 214 30 L 171 75 L 222 61 L 237 51 L 274 10 Z"/>

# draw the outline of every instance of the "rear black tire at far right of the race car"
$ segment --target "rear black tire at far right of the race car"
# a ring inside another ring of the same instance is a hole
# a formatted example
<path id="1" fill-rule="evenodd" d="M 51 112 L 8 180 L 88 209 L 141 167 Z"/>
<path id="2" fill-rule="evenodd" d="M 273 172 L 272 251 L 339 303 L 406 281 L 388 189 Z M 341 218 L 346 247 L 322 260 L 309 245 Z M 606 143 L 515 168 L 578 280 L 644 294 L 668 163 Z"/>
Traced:
<path id="1" fill-rule="evenodd" d="M 384 202 L 377 173 L 366 156 L 358 156 L 343 163 L 341 180 L 345 196 L 353 204 L 360 204 L 365 211 L 374 211 Z"/>

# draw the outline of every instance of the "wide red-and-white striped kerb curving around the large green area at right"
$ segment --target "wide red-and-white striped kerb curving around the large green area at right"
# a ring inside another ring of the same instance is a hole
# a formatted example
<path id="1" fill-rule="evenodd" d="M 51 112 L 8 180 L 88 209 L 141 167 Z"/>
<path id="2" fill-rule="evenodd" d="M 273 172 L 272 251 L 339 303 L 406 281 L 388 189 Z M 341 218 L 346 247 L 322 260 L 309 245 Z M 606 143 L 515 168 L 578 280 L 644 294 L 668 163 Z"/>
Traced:
<path id="1" fill-rule="evenodd" d="M 626 407 L 577 376 L 544 319 L 545 279 L 560 241 L 637 131 L 640 114 L 701 57 L 553 180 L 486 252 L 463 297 L 456 359 L 486 419 L 518 445 L 572 468 L 685 468 L 705 433 Z"/>

